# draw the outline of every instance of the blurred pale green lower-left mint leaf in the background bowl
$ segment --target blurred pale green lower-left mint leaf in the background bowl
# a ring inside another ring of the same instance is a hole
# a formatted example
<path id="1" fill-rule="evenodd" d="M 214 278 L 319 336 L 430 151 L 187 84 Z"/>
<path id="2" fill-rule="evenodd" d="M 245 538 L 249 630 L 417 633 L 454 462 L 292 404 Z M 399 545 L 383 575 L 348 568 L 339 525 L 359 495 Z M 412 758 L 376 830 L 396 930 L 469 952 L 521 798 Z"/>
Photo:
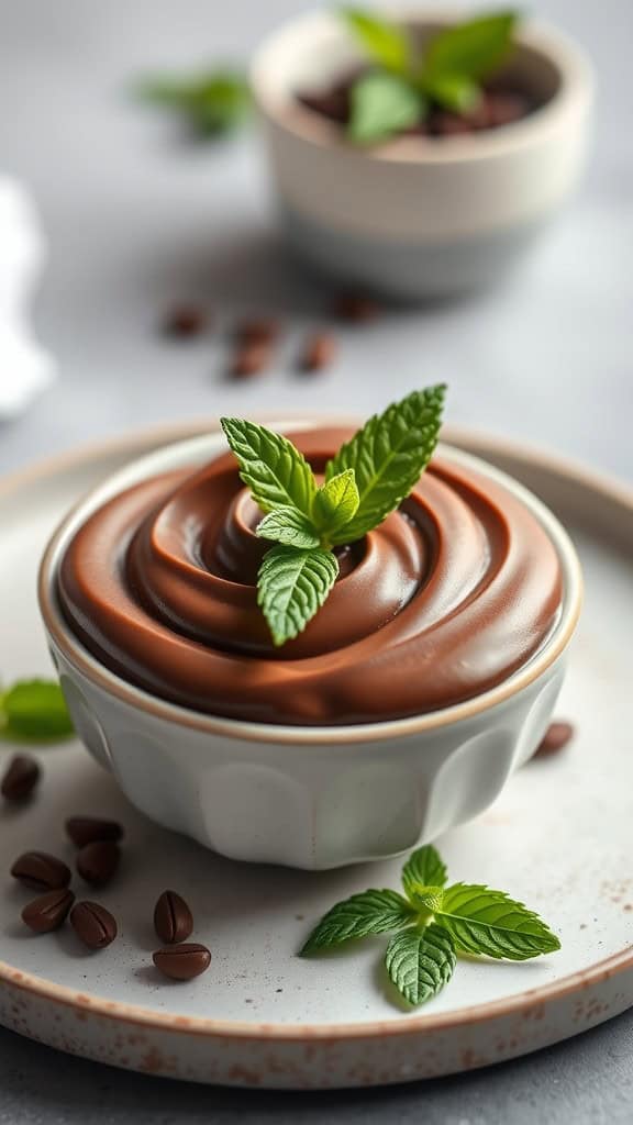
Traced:
<path id="1" fill-rule="evenodd" d="M 376 144 L 416 125 L 422 96 L 396 74 L 363 74 L 351 88 L 348 135 L 356 144 Z"/>

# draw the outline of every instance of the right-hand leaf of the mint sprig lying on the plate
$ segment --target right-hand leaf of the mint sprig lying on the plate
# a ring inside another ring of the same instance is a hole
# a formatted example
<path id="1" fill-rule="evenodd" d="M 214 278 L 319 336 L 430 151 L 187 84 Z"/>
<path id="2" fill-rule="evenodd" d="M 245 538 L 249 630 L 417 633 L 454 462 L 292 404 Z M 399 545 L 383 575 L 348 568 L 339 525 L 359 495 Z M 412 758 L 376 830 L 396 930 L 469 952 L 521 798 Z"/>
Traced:
<path id="1" fill-rule="evenodd" d="M 453 936 L 455 947 L 462 953 L 527 961 L 561 947 L 555 934 L 523 902 L 479 884 L 449 886 L 444 892 L 437 921 Z"/>

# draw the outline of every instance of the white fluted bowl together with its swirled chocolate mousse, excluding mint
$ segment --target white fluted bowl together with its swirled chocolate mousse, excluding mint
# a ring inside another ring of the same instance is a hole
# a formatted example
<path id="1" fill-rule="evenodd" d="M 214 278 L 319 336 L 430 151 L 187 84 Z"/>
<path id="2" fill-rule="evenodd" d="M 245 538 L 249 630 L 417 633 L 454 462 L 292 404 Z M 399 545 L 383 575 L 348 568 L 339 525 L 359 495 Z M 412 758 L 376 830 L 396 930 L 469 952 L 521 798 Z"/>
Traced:
<path id="1" fill-rule="evenodd" d="M 279 421 L 315 474 L 353 432 Z M 385 858 L 482 812 L 541 741 L 580 612 L 555 516 L 439 444 L 276 648 L 261 512 L 219 431 L 116 472 L 54 533 L 39 604 L 79 737 L 154 821 L 234 860 Z"/>

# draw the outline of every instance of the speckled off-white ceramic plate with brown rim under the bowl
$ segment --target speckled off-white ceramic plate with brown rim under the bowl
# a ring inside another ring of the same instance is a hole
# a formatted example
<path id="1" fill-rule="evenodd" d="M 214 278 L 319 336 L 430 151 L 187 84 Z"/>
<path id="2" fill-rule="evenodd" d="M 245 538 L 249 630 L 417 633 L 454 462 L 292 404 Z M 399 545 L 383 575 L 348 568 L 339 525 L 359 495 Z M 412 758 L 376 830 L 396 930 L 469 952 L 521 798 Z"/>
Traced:
<path id="1" fill-rule="evenodd" d="M 126 460 L 184 435 L 142 435 L 0 484 L 3 680 L 48 670 L 35 574 L 54 524 Z M 404 1014 L 384 990 L 382 939 L 321 960 L 295 956 L 335 900 L 395 886 L 399 862 L 305 874 L 221 860 L 144 820 L 80 745 L 66 744 L 37 750 L 45 771 L 37 799 L 0 810 L 2 866 L 33 847 L 70 857 L 62 825 L 71 813 L 116 817 L 126 827 L 124 864 L 99 898 L 117 916 L 121 938 L 89 954 L 69 929 L 30 936 L 19 921 L 28 892 L 7 874 L 0 1023 L 118 1066 L 318 1088 L 482 1066 L 633 1005 L 633 496 L 541 454 L 463 433 L 449 440 L 540 493 L 572 531 L 585 566 L 587 604 L 559 708 L 578 724 L 574 744 L 531 763 L 492 809 L 440 842 L 455 879 L 527 900 L 560 933 L 562 952 L 518 965 L 461 962 L 444 993 Z M 12 749 L 0 744 L 0 767 Z M 188 984 L 159 980 L 152 966 L 152 909 L 166 886 L 189 900 L 193 939 L 213 951 L 209 971 Z"/>

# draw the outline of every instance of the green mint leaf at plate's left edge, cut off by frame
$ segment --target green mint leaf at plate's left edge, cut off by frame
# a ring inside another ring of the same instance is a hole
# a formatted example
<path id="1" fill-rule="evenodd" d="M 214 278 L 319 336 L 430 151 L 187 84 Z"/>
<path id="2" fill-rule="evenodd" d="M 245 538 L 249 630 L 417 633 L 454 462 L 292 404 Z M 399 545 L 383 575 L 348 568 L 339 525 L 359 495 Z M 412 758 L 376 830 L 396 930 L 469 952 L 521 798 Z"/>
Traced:
<path id="1" fill-rule="evenodd" d="M 23 680 L 0 695 L 0 734 L 19 739 L 61 739 L 73 734 L 60 685 Z"/>

